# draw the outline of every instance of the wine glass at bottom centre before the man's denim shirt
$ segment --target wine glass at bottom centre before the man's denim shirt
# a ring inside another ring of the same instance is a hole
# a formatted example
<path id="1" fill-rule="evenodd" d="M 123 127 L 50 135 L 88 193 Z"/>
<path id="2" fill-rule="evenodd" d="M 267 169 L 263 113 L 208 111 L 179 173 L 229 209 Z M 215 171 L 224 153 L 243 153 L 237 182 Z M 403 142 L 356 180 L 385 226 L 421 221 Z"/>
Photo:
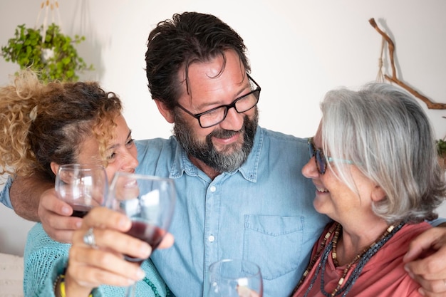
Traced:
<path id="1" fill-rule="evenodd" d="M 207 297 L 262 297 L 263 281 L 257 264 L 223 259 L 209 266 Z"/>

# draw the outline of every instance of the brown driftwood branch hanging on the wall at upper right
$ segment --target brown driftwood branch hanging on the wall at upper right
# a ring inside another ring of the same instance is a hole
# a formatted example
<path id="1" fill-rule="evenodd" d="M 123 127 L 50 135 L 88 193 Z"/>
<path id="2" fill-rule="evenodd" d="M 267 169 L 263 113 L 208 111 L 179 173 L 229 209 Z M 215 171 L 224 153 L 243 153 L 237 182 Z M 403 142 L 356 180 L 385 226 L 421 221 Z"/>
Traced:
<path id="1" fill-rule="evenodd" d="M 391 81 L 392 83 L 396 83 L 397 85 L 400 85 L 401 88 L 405 88 L 405 90 L 408 90 L 408 92 L 410 92 L 416 98 L 418 98 L 418 99 L 422 100 L 422 102 L 426 103 L 427 108 L 429 108 L 429 109 L 446 109 L 446 104 L 433 103 L 429 98 L 425 97 L 424 95 L 421 95 L 416 90 L 414 90 L 413 88 L 410 88 L 410 86 L 406 85 L 405 83 L 403 83 L 403 81 L 398 79 L 398 76 L 396 73 L 396 68 L 395 68 L 395 60 L 393 57 L 393 55 L 395 53 L 395 44 L 393 43 L 392 39 L 378 27 L 378 25 L 375 22 L 375 19 L 372 18 L 372 19 L 368 20 L 368 22 L 370 23 L 370 25 L 373 26 L 373 28 L 375 28 L 376 31 L 378 31 L 378 33 L 380 33 L 381 36 L 383 36 L 383 42 L 385 41 L 388 44 L 390 66 L 392 68 L 392 76 L 384 74 L 384 78 L 386 80 Z M 381 68 L 381 65 L 380 65 L 380 68 Z"/>

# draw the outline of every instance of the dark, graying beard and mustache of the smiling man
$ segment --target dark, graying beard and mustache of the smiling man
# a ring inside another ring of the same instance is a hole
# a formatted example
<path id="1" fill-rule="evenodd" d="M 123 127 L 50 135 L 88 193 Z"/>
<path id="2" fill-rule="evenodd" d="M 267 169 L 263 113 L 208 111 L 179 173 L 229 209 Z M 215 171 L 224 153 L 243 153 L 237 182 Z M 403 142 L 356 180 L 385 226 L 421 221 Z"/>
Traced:
<path id="1" fill-rule="evenodd" d="M 175 113 L 175 125 L 173 127 L 174 135 L 182 148 L 190 157 L 204 162 L 217 172 L 232 172 L 239 169 L 248 159 L 249 152 L 254 145 L 254 136 L 256 135 L 257 123 L 259 122 L 259 113 L 255 108 L 254 117 L 249 120 L 248 116 L 244 116 L 242 129 L 239 131 L 232 130 L 214 130 L 207 135 L 206 142 L 198 142 L 192 128 L 187 125 L 182 116 Z M 243 143 L 239 142 L 229 145 L 226 150 L 217 151 L 212 143 L 212 137 L 229 138 L 237 132 L 242 133 Z M 240 147 L 241 145 L 241 147 Z M 231 152 L 232 151 L 232 152 Z"/>

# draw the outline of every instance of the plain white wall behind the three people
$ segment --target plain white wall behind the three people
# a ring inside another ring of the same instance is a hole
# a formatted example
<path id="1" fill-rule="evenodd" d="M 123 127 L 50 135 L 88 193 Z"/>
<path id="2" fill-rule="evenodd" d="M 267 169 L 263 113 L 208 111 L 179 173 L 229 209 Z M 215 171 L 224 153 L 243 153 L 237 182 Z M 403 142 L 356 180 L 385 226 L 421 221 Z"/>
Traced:
<path id="1" fill-rule="evenodd" d="M 35 24 L 40 2 L 0 1 L 1 46 L 14 35 L 16 25 Z M 399 78 L 433 101 L 446 103 L 443 0 L 58 3 L 63 32 L 87 38 L 78 51 L 96 71 L 85 73 L 83 78 L 99 80 L 106 90 L 120 95 L 137 139 L 170 135 L 170 125 L 158 114 L 147 90 L 145 41 L 158 21 L 182 11 L 219 16 L 244 38 L 252 76 L 262 88 L 260 124 L 272 130 L 301 137 L 313 135 L 321 118 L 318 103 L 327 90 L 341 85 L 356 88 L 375 80 L 381 37 L 368 23 L 370 18 L 375 18 L 395 42 Z M 16 69 L 0 59 L 0 85 L 9 83 L 9 74 Z M 446 110 L 427 113 L 437 137 L 444 137 L 446 119 L 442 116 Z M 446 207 L 441 214 L 446 217 Z M 0 207 L 0 251 L 21 254 L 29 226 Z"/>

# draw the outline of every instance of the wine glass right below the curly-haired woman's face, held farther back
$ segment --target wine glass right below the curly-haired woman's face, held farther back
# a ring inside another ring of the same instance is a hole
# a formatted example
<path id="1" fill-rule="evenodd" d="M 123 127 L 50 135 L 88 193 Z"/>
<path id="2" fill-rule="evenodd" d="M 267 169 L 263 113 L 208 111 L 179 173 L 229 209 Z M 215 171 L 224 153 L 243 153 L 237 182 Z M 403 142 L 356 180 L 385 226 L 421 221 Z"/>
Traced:
<path id="1" fill-rule="evenodd" d="M 84 217 L 90 209 L 105 204 L 108 179 L 101 165 L 61 165 L 54 184 L 59 199 L 73 207 L 71 217 Z"/>

